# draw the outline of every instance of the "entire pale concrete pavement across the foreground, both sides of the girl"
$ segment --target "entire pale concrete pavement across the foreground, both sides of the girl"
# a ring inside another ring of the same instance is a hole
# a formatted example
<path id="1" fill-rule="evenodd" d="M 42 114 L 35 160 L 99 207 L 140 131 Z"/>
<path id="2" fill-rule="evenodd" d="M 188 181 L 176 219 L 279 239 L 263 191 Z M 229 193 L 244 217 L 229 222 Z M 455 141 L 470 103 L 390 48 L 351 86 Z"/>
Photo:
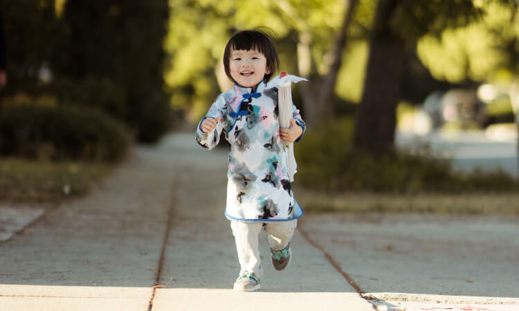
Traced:
<path id="1" fill-rule="evenodd" d="M 262 290 L 233 292 L 225 188 L 226 151 L 192 134 L 137 147 L 0 243 L 0 310 L 519 310 L 516 219 L 306 214 L 287 270 L 262 234 Z"/>

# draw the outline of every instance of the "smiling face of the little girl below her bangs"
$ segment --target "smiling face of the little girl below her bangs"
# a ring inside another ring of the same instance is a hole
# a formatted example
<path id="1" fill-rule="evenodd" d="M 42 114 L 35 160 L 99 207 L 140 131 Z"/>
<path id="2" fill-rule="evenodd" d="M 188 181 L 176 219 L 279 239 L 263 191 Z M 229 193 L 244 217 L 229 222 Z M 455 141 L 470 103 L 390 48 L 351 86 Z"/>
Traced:
<path id="1" fill-rule="evenodd" d="M 235 82 L 245 87 L 257 86 L 270 73 L 265 55 L 258 50 L 232 50 L 229 68 Z"/>

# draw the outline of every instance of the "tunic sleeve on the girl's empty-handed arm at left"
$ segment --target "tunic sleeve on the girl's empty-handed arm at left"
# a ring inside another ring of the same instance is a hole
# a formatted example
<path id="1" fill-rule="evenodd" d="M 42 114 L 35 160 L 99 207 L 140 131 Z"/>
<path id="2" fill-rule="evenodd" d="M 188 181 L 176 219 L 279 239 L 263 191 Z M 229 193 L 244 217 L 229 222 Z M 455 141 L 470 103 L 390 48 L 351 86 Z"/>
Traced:
<path id="1" fill-rule="evenodd" d="M 211 133 L 204 133 L 200 128 L 202 121 L 207 117 L 217 118 L 220 117 L 215 130 Z M 212 103 L 211 108 L 205 117 L 200 120 L 197 132 L 194 134 L 198 144 L 206 149 L 213 149 L 217 146 L 220 141 L 221 131 L 227 128 L 227 106 L 224 96 L 219 95 L 215 102 Z"/>

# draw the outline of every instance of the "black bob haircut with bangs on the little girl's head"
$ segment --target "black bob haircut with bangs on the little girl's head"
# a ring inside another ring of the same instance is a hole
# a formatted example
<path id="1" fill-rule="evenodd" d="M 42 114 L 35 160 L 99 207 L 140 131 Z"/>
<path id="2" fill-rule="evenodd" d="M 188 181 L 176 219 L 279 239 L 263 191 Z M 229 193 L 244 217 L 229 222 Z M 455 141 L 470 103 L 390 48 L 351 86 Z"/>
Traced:
<path id="1" fill-rule="evenodd" d="M 280 58 L 277 56 L 272 37 L 262 30 L 254 29 L 236 32 L 227 42 L 224 52 L 224 68 L 227 77 L 234 81 L 233 77 L 230 75 L 229 65 L 230 54 L 233 50 L 258 50 L 260 53 L 265 55 L 266 68 L 270 70 L 270 73 L 265 73 L 265 82 L 268 82 L 272 75 L 280 68 Z"/>

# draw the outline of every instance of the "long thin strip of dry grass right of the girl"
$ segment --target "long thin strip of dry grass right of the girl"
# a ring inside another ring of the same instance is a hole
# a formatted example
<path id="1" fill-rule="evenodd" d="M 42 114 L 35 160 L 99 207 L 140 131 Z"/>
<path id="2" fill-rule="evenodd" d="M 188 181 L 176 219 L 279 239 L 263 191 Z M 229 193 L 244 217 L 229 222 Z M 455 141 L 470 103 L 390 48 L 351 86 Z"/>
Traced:
<path id="1" fill-rule="evenodd" d="M 310 213 L 432 213 L 519 215 L 519 194 L 329 194 L 301 189 L 298 203 Z"/>

